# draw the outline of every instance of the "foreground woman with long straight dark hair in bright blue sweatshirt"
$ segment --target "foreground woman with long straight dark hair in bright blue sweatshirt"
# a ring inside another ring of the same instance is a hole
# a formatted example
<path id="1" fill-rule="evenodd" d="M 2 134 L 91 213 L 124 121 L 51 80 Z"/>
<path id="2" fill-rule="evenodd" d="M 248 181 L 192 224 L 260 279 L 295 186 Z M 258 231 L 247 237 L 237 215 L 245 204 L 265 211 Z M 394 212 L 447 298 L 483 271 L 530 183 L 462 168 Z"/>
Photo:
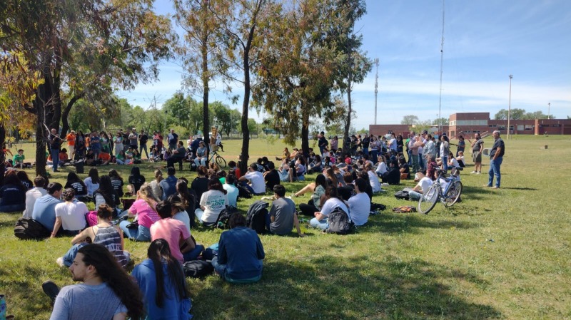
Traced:
<path id="1" fill-rule="evenodd" d="M 190 319 L 191 298 L 181 263 L 171 254 L 165 239 L 151 242 L 148 259 L 133 269 L 133 277 L 145 297 L 148 319 Z"/>

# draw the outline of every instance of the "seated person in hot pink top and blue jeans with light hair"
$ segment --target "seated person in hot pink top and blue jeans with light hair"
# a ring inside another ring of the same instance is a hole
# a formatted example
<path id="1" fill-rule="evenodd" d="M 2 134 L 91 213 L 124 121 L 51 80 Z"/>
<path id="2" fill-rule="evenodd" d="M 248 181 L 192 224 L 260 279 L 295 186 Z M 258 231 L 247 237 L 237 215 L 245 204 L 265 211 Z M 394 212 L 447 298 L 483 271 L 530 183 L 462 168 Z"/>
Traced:
<path id="1" fill-rule="evenodd" d="M 146 183 L 141 185 L 141 189 L 137 191 L 137 200 L 128 210 L 128 217 L 136 216 L 137 223 L 127 220 L 119 223 L 125 237 L 137 241 L 151 241 L 151 224 L 161 219 L 155 210 L 156 203 L 151 186 Z"/>

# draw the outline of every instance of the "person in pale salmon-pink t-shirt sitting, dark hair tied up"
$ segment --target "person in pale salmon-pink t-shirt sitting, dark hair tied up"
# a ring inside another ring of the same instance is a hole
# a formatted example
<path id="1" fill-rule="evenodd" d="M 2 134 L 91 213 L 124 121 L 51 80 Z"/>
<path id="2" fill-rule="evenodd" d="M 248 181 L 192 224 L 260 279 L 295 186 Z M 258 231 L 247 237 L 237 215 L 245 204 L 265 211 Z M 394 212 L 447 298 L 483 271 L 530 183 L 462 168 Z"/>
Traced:
<path id="1" fill-rule="evenodd" d="M 165 239 L 171 249 L 171 254 L 181 263 L 196 260 L 203 252 L 204 246 L 196 244 L 186 224 L 173 219 L 173 211 L 178 210 L 173 210 L 168 201 L 158 202 L 156 210 L 161 220 L 151 226 L 152 241 Z"/>

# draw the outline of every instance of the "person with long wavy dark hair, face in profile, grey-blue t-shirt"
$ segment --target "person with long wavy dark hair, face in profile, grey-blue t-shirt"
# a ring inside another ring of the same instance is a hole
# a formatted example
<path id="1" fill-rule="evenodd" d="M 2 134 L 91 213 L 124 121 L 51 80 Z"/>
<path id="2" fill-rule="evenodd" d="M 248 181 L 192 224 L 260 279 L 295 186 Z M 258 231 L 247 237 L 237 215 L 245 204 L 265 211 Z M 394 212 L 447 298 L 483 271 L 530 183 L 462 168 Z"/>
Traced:
<path id="1" fill-rule="evenodd" d="M 106 247 L 82 247 L 69 271 L 74 281 L 83 283 L 61 291 L 51 281 L 41 286 L 55 301 L 50 319 L 143 319 L 141 291 Z"/>

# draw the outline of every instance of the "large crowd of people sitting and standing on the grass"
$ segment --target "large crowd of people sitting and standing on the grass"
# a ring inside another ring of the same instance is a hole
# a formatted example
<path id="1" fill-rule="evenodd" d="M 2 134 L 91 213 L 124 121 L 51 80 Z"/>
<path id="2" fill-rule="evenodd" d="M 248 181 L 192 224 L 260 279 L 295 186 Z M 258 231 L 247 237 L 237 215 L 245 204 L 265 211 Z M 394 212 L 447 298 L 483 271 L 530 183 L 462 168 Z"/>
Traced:
<path id="1" fill-rule="evenodd" d="M 69 148 L 72 158 L 78 154 L 81 157 L 84 155 L 81 141 L 86 137 L 81 132 L 72 133 L 73 139 L 66 138 L 68 143 L 74 141 Z M 129 150 L 135 150 L 133 147 L 139 143 L 140 150 L 146 152 L 148 138 L 141 140 L 141 135 L 144 135 L 142 130 L 138 135 L 133 130 L 127 140 L 123 140 L 123 134 L 118 133 L 113 140 L 115 150 L 119 150 L 116 155 L 124 152 L 123 144 Z M 156 148 L 163 148 L 162 137 L 155 139 L 156 135 L 158 133 L 153 136 L 151 153 L 147 155 L 149 160 L 153 159 Z M 111 153 L 111 141 L 105 133 L 101 133 L 101 138 L 98 133 L 88 138 L 89 152 L 97 157 L 101 153 Z M 499 187 L 499 167 L 505 146 L 499 132 L 494 133 L 494 138 L 490 156 L 495 164 L 490 166 L 487 186 L 492 186 L 495 176 L 496 187 Z M 57 139 L 52 137 L 51 140 Z M 356 226 L 362 226 L 368 222 L 373 195 L 384 191 L 383 183 L 398 185 L 400 180 L 415 177 L 418 185 L 411 190 L 410 197 L 418 199 L 437 177 L 437 167 L 445 171 L 464 167 L 463 140 L 460 137 L 454 155 L 446 135 L 436 141 L 426 131 L 410 133 L 406 140 L 394 134 L 390 139 L 353 135 L 350 153 L 342 154 L 338 138 L 328 141 L 322 132 L 318 135 L 318 153 L 312 149 L 303 153 L 297 148 L 290 153 L 285 148 L 282 157 L 276 157 L 278 165 L 263 157 L 252 162 L 248 171 L 242 173 L 234 161 L 228 163 L 228 170 L 222 170 L 216 163 L 203 162 L 200 149 L 205 143 L 197 139 L 187 143 L 192 153 L 191 145 L 198 141 L 194 153 L 197 177 L 191 182 L 185 177 L 176 177 L 174 162 L 168 162 L 168 156 L 166 177 L 163 177 L 163 170 L 158 169 L 151 182 L 141 175 L 138 166 L 131 168 L 126 180 L 114 169 L 100 175 L 98 168 L 92 167 L 84 180 L 76 172 L 69 172 L 65 186 L 49 183 L 41 176 L 31 182 L 26 172 L 12 169 L 6 172 L 4 185 L 0 187 L 0 211 L 23 210 L 24 217 L 37 220 L 51 232 L 52 238 L 73 237 L 70 249 L 57 259 L 57 263 L 69 267 L 74 280 L 84 284 L 65 287 L 61 291 L 51 282 L 44 284 L 44 291 L 55 301 L 52 319 L 64 319 L 81 310 L 96 309 L 103 299 L 101 296 L 109 303 L 106 308 L 95 310 L 95 317 L 89 319 L 109 318 L 109 315 L 123 316 L 117 319 L 125 316 L 138 319 L 141 314 L 172 314 L 173 319 L 190 319 L 191 302 L 183 263 L 197 259 L 211 262 L 213 269 L 227 282 L 248 283 L 261 279 L 265 257 L 263 245 L 258 234 L 246 227 L 243 215 L 231 215 L 228 221 L 231 229 L 224 231 L 218 243 L 211 247 L 197 242 L 191 234 L 196 224 L 216 226 L 223 210 L 236 207 L 238 197 L 243 193 L 271 195 L 271 207 L 265 217 L 266 230 L 271 234 L 290 234 L 295 229 L 303 237 L 300 222 L 304 220 L 311 227 L 327 230 L 328 217 L 333 212 L 344 212 Z M 78 141 L 80 143 L 76 144 Z M 468 141 L 473 149 L 473 173 L 477 174 L 481 170 L 483 141 L 479 135 L 475 136 L 474 142 Z M 94 147 L 94 142 L 98 147 Z M 211 145 L 216 145 L 216 140 L 211 140 Z M 59 158 L 55 149 L 61 146 L 51 144 L 51 147 L 54 148 L 52 159 Z M 171 130 L 167 149 L 173 151 L 171 157 L 176 157 L 179 153 L 176 149 L 181 147 L 182 142 Z M 180 151 L 183 152 L 187 153 Z M 19 157 L 24 160 L 21 153 Z M 56 163 L 54 170 L 57 166 Z M 283 183 L 305 181 L 308 175 L 315 175 L 313 182 L 288 197 Z M 296 205 L 295 198 L 305 193 L 311 194 L 309 202 Z M 121 197 L 125 195 L 133 196 L 135 200 L 122 202 Z M 94 202 L 96 211 L 90 212 L 86 202 Z M 125 238 L 151 242 L 148 259 L 133 269 L 132 277 L 136 282 L 129 284 L 124 281 L 129 279 L 124 268 L 131 260 L 131 254 L 125 250 Z M 111 279 L 116 283 L 109 283 Z M 134 283 L 138 288 L 133 287 Z M 97 299 L 81 298 L 94 292 L 101 293 Z M 80 308 L 71 301 L 82 301 L 85 306 Z M 106 316 L 101 316 L 102 312 Z"/>

